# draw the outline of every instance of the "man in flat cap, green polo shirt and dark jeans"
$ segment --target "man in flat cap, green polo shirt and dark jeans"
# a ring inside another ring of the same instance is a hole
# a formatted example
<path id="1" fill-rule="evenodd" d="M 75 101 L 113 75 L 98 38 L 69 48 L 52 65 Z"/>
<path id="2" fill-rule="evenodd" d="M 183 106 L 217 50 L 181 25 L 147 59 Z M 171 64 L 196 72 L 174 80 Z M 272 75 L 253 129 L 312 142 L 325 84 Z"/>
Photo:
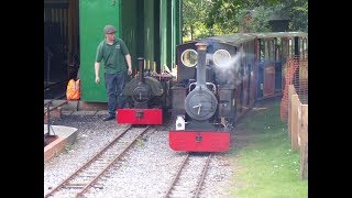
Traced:
<path id="1" fill-rule="evenodd" d="M 125 72 L 132 74 L 132 62 L 128 47 L 124 42 L 116 37 L 117 29 L 112 25 L 106 25 L 103 28 L 106 38 L 100 42 L 97 47 L 95 73 L 96 84 L 99 84 L 99 68 L 100 62 L 105 62 L 105 80 L 108 95 L 108 111 L 109 117 L 103 121 L 114 120 L 117 112 L 117 99 L 119 109 L 123 109 L 124 100 L 122 97 L 122 90 L 125 85 Z M 127 65 L 129 67 L 127 67 Z"/>

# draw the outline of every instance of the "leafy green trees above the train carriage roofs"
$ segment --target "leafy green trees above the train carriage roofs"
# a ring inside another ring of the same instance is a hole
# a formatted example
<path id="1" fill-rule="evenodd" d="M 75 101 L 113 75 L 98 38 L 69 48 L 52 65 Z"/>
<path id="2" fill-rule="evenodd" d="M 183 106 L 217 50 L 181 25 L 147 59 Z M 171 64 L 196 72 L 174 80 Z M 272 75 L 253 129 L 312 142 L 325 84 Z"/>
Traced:
<path id="1" fill-rule="evenodd" d="M 237 32 L 270 32 L 273 14 L 288 31 L 308 32 L 308 0 L 184 0 L 184 41 Z"/>

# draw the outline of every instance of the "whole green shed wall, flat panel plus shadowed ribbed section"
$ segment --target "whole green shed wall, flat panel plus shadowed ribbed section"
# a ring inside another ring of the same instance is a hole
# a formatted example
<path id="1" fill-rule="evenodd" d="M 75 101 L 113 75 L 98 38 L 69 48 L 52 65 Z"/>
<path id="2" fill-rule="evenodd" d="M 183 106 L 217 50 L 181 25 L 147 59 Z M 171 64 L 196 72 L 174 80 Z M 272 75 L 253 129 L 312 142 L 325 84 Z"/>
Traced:
<path id="1" fill-rule="evenodd" d="M 134 73 L 138 57 L 145 58 L 146 68 L 172 69 L 176 45 L 182 43 L 180 4 L 182 0 L 79 0 L 81 100 L 107 102 L 103 63 L 99 85 L 95 84 L 94 69 L 106 24 L 118 28 L 117 36 L 130 51 Z"/>

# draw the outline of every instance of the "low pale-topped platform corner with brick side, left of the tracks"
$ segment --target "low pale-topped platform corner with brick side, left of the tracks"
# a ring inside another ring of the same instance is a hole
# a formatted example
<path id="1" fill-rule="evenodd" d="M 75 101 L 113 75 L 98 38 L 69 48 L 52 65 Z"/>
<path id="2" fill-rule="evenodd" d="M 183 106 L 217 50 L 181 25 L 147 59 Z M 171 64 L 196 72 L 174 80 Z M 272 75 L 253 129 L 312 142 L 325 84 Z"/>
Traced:
<path id="1" fill-rule="evenodd" d="M 44 163 L 62 153 L 67 145 L 74 144 L 77 138 L 76 128 L 65 125 L 44 124 L 44 134 L 50 130 L 50 135 L 57 135 L 57 139 L 44 147 Z"/>

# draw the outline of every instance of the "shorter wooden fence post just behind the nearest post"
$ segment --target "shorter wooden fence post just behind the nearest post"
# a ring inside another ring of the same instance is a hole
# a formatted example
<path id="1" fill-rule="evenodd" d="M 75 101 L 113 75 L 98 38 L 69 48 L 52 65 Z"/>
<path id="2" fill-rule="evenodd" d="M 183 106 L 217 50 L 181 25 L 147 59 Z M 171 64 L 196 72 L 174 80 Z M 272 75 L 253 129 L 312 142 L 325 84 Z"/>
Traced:
<path id="1" fill-rule="evenodd" d="M 298 140 L 297 140 L 297 113 L 298 113 L 298 95 L 292 96 L 292 113 L 290 113 L 290 141 L 292 141 L 292 148 L 298 150 Z"/>

